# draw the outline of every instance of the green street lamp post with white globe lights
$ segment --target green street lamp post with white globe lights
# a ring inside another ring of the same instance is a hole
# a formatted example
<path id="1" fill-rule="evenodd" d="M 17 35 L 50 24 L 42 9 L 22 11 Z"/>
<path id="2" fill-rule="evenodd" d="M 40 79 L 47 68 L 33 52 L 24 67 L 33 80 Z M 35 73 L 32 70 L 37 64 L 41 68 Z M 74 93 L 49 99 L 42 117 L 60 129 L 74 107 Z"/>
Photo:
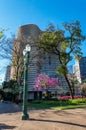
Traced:
<path id="1" fill-rule="evenodd" d="M 26 45 L 26 48 L 23 50 L 24 55 L 24 88 L 23 88 L 23 108 L 22 108 L 22 120 L 29 119 L 27 114 L 27 85 L 28 85 L 28 64 L 30 57 L 30 45 Z"/>

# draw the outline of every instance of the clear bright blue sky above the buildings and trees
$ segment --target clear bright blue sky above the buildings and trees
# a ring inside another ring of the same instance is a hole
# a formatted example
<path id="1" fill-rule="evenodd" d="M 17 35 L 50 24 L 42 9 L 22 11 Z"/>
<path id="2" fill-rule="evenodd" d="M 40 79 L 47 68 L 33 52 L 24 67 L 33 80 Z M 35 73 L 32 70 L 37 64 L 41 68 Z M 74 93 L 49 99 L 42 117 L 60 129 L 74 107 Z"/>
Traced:
<path id="1" fill-rule="evenodd" d="M 19 26 L 36 24 L 44 30 L 51 22 L 61 26 L 63 22 L 79 20 L 86 35 L 86 0 L 0 0 L 0 28 L 8 29 L 6 35 L 17 34 Z M 86 56 L 86 42 L 82 45 Z M 3 81 L 8 60 L 0 59 L 0 82 Z"/>

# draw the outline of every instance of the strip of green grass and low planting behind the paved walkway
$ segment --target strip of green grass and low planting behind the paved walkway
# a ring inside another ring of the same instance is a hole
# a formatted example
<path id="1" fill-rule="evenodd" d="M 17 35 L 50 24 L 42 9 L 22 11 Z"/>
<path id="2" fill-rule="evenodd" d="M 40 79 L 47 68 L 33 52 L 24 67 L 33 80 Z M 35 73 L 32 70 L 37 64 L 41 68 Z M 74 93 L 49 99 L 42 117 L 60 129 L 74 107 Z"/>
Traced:
<path id="1" fill-rule="evenodd" d="M 71 109 L 86 107 L 86 98 L 66 100 L 34 100 L 28 102 L 28 107 L 36 109 Z"/>

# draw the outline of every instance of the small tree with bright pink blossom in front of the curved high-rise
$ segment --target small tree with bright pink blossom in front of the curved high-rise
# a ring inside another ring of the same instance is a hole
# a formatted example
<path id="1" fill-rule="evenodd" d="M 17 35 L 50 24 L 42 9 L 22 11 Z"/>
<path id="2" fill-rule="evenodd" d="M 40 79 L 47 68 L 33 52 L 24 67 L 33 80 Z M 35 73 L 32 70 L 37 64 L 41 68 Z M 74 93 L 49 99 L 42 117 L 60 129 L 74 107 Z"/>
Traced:
<path id="1" fill-rule="evenodd" d="M 39 74 L 35 79 L 34 91 L 40 91 L 44 88 L 48 95 L 48 89 L 50 87 L 56 87 L 59 85 L 58 78 L 50 78 L 46 74 Z"/>

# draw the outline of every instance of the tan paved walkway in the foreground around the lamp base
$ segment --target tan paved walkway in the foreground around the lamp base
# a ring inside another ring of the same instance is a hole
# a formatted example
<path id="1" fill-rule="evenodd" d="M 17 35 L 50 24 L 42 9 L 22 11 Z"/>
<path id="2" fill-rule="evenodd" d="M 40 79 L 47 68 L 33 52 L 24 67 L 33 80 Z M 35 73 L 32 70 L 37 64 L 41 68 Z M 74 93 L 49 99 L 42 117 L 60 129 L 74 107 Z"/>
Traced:
<path id="1" fill-rule="evenodd" d="M 29 110 L 29 120 L 22 112 L 0 114 L 0 130 L 86 130 L 86 108 Z"/>

